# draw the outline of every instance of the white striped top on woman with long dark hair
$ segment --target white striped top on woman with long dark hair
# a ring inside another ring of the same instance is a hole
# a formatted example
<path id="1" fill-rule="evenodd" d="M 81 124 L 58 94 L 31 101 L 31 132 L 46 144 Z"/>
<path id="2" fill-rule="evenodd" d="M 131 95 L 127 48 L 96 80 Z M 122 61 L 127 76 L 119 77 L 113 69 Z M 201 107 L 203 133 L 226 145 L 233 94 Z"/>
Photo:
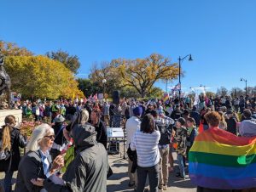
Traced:
<path id="1" fill-rule="evenodd" d="M 131 140 L 131 150 L 137 150 L 137 165 L 139 167 L 153 167 L 160 161 L 158 143 L 160 132 L 143 133 L 140 130 Z"/>

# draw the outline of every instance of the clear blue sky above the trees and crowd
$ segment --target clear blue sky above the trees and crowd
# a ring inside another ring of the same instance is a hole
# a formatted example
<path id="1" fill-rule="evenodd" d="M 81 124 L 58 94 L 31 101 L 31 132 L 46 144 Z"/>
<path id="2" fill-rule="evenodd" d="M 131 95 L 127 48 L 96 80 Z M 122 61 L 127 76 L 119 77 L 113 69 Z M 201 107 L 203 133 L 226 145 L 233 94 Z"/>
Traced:
<path id="1" fill-rule="evenodd" d="M 0 7 L 0 39 L 35 54 L 76 54 L 82 77 L 94 62 L 192 54 L 182 65 L 184 88 L 244 88 L 240 77 L 256 85 L 254 0 L 2 0 Z"/>

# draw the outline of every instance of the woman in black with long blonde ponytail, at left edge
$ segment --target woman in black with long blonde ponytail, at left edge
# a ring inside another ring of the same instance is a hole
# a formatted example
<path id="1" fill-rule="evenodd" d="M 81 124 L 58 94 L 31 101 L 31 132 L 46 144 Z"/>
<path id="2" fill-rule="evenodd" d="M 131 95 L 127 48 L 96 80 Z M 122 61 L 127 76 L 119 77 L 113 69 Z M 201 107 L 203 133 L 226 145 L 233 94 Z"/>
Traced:
<path id="1" fill-rule="evenodd" d="M 18 170 L 20 163 L 20 149 L 26 146 L 26 139 L 15 128 L 15 116 L 9 115 L 4 119 L 4 125 L 0 129 L 0 172 L 5 172 L 4 190 L 11 191 L 13 173 Z"/>

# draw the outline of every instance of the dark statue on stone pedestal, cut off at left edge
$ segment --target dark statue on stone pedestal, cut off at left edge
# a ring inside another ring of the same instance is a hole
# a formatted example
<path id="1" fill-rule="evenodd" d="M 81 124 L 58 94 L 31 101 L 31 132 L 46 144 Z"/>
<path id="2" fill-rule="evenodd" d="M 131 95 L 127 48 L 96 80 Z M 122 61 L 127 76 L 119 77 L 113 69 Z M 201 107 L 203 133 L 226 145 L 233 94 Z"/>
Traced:
<path id="1" fill-rule="evenodd" d="M 2 54 L 2 50 L 0 49 L 0 96 L 3 95 L 5 92 L 7 95 L 7 101 L 10 108 L 10 102 L 11 102 L 11 94 L 10 94 L 10 78 L 9 75 L 4 70 L 4 55 Z M 2 105 L 2 104 L 0 104 Z"/>

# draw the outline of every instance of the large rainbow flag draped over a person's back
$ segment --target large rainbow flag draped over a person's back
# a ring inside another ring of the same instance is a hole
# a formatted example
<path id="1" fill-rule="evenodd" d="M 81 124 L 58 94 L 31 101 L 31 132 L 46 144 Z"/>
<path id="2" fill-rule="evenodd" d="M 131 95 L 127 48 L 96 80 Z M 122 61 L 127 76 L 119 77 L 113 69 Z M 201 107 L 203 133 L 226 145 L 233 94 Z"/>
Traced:
<path id="1" fill-rule="evenodd" d="M 255 188 L 256 137 L 237 137 L 217 127 L 200 133 L 189 150 L 189 177 L 205 188 Z"/>

